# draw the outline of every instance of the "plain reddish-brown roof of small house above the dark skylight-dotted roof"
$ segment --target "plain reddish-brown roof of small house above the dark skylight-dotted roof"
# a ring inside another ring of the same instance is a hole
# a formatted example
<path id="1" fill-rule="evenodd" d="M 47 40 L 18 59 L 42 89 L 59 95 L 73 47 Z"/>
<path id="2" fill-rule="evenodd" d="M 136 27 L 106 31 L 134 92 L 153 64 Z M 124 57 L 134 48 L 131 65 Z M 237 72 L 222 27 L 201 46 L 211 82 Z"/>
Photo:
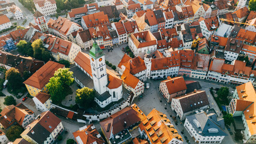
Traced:
<path id="1" fill-rule="evenodd" d="M 183 77 L 174 77 L 174 78 L 168 77 L 168 79 L 163 80 L 161 83 L 166 84 L 170 95 L 187 89 L 187 86 Z"/>

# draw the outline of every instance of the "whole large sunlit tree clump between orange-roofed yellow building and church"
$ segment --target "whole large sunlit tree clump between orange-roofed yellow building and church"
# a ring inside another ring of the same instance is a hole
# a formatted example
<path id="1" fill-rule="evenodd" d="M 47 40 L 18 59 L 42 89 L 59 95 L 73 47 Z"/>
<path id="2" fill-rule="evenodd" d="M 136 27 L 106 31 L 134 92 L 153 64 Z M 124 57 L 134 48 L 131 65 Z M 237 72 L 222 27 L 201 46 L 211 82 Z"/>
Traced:
<path id="1" fill-rule="evenodd" d="M 68 86 L 74 82 L 73 72 L 69 70 L 70 68 L 59 68 L 46 85 L 53 103 L 61 103 L 67 96 Z"/>

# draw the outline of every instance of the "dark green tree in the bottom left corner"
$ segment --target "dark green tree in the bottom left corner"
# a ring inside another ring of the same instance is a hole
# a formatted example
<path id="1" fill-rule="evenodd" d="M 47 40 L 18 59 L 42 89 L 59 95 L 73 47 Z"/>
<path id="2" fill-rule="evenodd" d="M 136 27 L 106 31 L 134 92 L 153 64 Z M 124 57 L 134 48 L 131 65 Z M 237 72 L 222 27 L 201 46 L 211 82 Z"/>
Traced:
<path id="1" fill-rule="evenodd" d="M 11 126 L 7 132 L 6 132 L 6 136 L 7 138 L 13 142 L 14 140 L 16 140 L 17 138 L 20 138 L 20 134 L 22 133 L 22 128 L 17 126 L 17 125 L 13 125 Z"/>

